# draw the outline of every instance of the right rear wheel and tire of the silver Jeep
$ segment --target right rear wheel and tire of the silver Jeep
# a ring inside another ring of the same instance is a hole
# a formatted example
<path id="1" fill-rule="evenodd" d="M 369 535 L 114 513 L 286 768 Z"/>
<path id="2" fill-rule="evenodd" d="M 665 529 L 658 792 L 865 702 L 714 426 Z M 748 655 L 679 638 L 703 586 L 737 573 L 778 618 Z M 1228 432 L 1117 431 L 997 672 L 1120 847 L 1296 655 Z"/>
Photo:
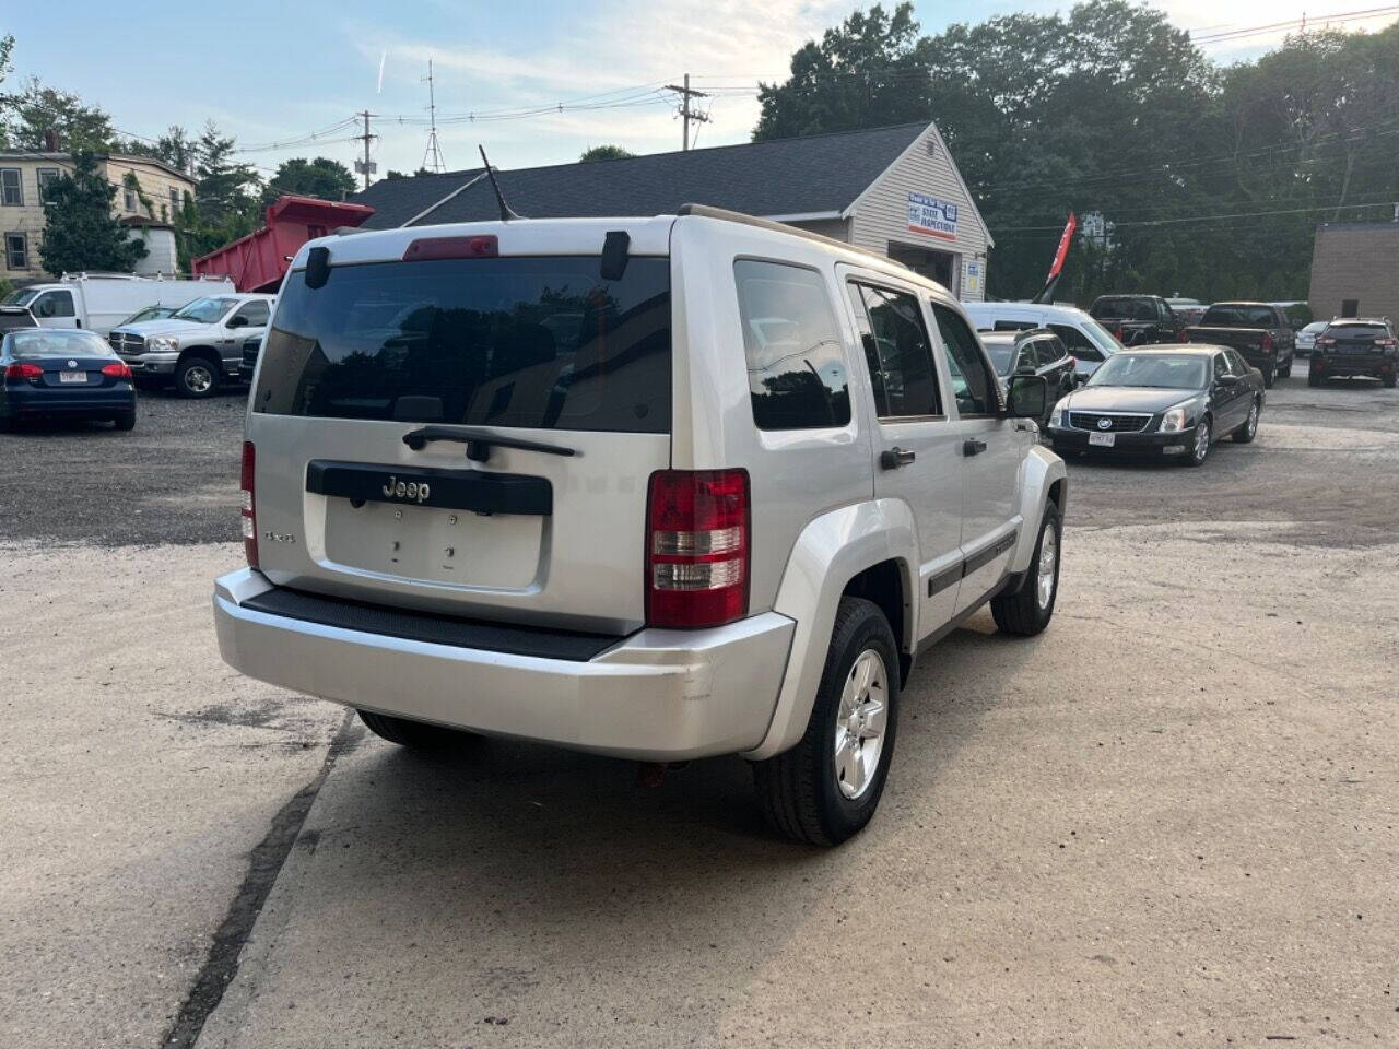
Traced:
<path id="1" fill-rule="evenodd" d="M 806 733 L 753 765 L 762 817 L 778 834 L 839 845 L 870 821 L 898 729 L 898 649 L 884 613 L 842 597 Z"/>

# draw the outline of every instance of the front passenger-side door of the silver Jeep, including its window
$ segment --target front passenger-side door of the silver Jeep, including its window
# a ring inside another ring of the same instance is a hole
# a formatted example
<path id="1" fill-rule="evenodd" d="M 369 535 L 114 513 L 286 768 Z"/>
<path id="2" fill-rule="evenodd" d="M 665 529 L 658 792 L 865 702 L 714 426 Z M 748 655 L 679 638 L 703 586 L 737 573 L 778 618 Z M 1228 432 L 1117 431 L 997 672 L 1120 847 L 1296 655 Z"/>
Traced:
<path id="1" fill-rule="evenodd" d="M 932 304 L 956 396 L 953 425 L 963 462 L 961 554 L 965 562 L 956 611 L 977 604 L 1010 568 L 1020 531 L 1020 462 L 1034 424 L 1006 418 L 990 361 L 951 306 Z"/>

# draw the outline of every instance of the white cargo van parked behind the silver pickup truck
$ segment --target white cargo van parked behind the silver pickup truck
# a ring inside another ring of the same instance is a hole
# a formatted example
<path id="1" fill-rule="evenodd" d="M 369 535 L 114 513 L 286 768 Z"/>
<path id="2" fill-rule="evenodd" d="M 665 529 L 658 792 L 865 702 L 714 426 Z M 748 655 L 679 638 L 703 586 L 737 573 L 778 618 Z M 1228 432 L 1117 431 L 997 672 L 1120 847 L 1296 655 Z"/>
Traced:
<path id="1" fill-rule="evenodd" d="M 129 273 L 78 273 L 13 291 L 0 305 L 28 306 L 42 327 L 81 327 L 105 338 L 144 306 L 183 306 L 204 295 L 232 291 L 227 277 L 180 281 Z"/>

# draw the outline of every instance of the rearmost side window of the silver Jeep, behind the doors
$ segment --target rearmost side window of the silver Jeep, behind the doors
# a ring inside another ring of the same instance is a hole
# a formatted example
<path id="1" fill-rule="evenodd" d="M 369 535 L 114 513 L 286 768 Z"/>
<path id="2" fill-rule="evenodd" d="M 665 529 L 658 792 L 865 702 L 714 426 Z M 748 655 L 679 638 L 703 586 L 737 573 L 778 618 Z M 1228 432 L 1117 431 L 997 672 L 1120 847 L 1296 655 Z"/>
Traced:
<path id="1" fill-rule="evenodd" d="M 821 274 L 740 259 L 733 264 L 733 278 L 758 429 L 848 424 L 845 352 Z"/>

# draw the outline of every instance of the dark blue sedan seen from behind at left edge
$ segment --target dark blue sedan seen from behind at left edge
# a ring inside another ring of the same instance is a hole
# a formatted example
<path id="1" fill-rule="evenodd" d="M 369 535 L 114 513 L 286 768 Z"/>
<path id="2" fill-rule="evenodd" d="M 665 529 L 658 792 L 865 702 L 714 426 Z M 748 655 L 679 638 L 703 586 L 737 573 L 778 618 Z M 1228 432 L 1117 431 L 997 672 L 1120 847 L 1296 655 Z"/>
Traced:
<path id="1" fill-rule="evenodd" d="M 92 331 L 34 327 L 0 340 L 0 429 L 41 415 L 136 425 L 132 369 Z"/>

